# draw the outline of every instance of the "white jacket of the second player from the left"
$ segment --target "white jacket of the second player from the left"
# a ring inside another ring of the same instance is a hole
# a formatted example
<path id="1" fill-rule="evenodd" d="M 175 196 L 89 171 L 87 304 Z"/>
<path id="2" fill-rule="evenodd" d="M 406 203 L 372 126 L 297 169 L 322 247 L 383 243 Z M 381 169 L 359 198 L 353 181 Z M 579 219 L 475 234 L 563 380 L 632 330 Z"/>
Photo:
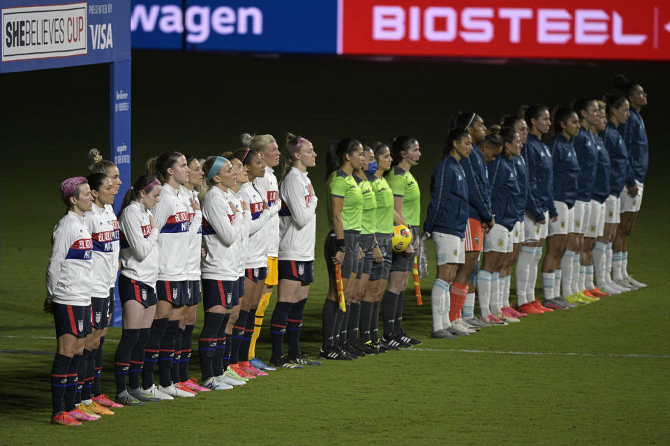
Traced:
<path id="1" fill-rule="evenodd" d="M 93 239 L 91 297 L 106 299 L 119 272 L 119 222 L 111 205 L 98 207 L 94 203 L 93 209 L 84 213 L 84 223 Z"/>

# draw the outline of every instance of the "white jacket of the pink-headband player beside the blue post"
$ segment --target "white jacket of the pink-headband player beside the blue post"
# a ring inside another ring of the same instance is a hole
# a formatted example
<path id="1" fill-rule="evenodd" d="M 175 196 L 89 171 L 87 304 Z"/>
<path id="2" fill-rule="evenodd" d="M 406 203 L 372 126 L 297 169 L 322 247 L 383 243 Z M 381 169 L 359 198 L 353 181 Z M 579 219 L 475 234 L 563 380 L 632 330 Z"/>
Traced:
<path id="1" fill-rule="evenodd" d="M 158 277 L 158 229 L 151 229 L 151 211 L 132 202 L 123 214 L 121 227 L 121 274 L 156 290 Z"/>

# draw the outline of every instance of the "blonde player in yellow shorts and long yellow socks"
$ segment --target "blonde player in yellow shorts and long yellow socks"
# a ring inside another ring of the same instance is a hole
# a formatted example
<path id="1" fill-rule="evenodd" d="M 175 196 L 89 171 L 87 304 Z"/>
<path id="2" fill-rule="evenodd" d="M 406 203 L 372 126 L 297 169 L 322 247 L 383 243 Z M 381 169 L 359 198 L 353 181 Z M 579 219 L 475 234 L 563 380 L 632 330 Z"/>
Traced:
<path id="1" fill-rule="evenodd" d="M 262 198 L 269 207 L 277 205 L 276 199 L 279 193 L 277 177 L 274 176 L 272 168 L 279 164 L 279 146 L 272 135 L 255 135 L 251 137 L 248 133 L 241 135 L 242 144 L 245 147 L 251 147 L 260 151 L 265 163 L 265 175 L 253 180 L 253 185 L 260 192 Z M 280 205 L 281 206 L 281 205 Z M 249 363 L 259 370 L 274 370 L 274 367 L 268 366 L 256 357 L 256 340 L 260 335 L 260 327 L 263 325 L 265 309 L 270 302 L 270 296 L 274 290 L 274 285 L 278 283 L 277 273 L 277 253 L 279 250 L 279 216 L 274 215 L 263 229 L 266 232 L 268 241 L 267 246 L 267 277 L 265 278 L 265 290 L 258 302 L 258 309 L 255 313 L 255 324 L 251 345 L 249 345 Z"/>

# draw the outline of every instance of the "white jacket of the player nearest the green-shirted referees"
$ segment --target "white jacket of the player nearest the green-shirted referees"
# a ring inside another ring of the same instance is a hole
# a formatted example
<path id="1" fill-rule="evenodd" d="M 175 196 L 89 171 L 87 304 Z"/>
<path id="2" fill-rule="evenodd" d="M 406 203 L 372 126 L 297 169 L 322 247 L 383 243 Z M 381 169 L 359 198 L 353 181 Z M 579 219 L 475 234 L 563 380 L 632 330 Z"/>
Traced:
<path id="1" fill-rule="evenodd" d="M 309 195 L 307 172 L 291 168 L 281 181 L 279 260 L 314 260 L 316 202 Z"/>

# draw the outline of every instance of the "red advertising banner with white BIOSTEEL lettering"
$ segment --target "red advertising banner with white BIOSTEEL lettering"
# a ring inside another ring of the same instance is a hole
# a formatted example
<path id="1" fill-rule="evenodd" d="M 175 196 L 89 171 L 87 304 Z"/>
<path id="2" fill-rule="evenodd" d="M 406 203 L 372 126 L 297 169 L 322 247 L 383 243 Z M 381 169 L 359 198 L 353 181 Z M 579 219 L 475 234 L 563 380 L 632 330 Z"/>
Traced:
<path id="1" fill-rule="evenodd" d="M 667 0 L 340 0 L 339 54 L 670 60 Z"/>

